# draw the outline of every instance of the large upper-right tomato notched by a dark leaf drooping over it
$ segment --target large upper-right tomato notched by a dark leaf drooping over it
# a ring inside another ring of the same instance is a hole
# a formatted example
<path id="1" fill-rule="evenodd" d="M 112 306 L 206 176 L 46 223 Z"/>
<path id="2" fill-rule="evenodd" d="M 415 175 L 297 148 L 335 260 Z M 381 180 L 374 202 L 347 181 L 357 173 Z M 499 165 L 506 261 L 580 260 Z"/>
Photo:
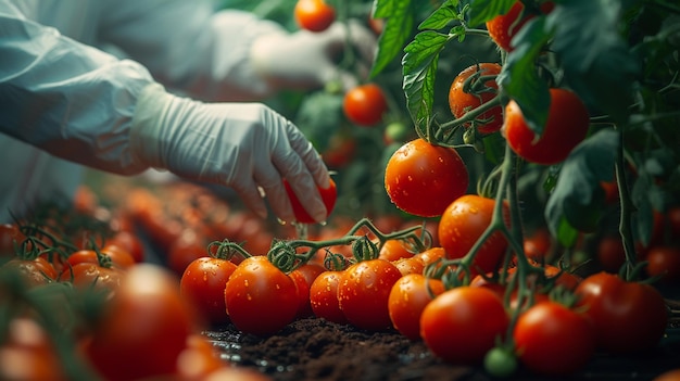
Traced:
<path id="1" fill-rule="evenodd" d="M 547 122 L 540 137 L 529 128 L 515 101 L 505 106 L 505 139 L 517 155 L 531 163 L 552 165 L 564 161 L 588 134 L 588 109 L 577 94 L 551 89 L 550 97 Z"/>

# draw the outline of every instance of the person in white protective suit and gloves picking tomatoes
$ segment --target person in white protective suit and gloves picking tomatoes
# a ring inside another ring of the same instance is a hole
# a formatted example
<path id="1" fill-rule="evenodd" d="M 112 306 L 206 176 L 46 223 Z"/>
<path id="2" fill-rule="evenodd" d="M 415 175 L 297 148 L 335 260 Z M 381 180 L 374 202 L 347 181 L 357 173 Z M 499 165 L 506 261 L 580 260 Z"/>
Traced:
<path id="1" fill-rule="evenodd" d="M 352 29 L 370 54 L 372 36 Z M 71 198 L 81 165 L 122 175 L 155 167 L 232 187 L 262 216 L 264 190 L 275 214 L 292 220 L 286 177 L 323 220 L 315 186 L 328 173 L 308 141 L 263 104 L 217 102 L 333 79 L 328 55 L 344 30 L 288 34 L 202 0 L 0 0 L 0 221 Z"/>

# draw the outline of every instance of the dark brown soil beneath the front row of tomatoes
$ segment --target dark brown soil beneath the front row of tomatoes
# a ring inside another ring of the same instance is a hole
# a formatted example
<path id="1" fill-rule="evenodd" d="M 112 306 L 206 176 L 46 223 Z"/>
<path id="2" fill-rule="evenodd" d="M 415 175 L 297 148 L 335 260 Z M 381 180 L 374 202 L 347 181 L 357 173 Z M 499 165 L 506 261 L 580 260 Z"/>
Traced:
<path id="1" fill-rule="evenodd" d="M 395 331 L 367 332 L 323 319 L 298 320 L 257 338 L 232 326 L 206 331 L 225 360 L 259 369 L 274 380 L 493 380 L 481 367 L 444 364 L 420 341 Z M 627 357 L 597 354 L 569 380 L 652 380 L 680 368 L 680 321 L 655 351 Z M 547 380 L 519 370 L 514 380 Z M 554 379 L 554 378 L 553 378 Z"/>

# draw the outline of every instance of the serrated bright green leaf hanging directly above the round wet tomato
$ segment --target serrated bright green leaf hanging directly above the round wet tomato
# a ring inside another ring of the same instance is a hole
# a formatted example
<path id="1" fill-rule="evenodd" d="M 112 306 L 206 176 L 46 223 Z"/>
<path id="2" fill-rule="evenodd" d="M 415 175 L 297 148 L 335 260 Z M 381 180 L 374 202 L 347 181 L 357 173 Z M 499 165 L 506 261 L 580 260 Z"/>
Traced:
<path id="1" fill-rule="evenodd" d="M 420 131 L 426 130 L 430 118 L 439 53 L 449 40 L 449 35 L 425 30 L 404 48 L 402 66 L 406 107 L 416 129 Z"/>

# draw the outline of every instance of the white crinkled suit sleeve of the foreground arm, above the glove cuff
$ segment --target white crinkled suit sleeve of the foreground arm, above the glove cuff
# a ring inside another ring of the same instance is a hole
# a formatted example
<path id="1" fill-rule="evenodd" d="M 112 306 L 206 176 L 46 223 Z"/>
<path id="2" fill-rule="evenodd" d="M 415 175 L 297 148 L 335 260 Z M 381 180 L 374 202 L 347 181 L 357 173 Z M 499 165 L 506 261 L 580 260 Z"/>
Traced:
<path id="1" fill-rule="evenodd" d="M 98 169 L 146 168 L 129 154 L 137 97 L 153 82 L 143 66 L 26 20 L 7 2 L 0 56 L 0 132 Z"/>

